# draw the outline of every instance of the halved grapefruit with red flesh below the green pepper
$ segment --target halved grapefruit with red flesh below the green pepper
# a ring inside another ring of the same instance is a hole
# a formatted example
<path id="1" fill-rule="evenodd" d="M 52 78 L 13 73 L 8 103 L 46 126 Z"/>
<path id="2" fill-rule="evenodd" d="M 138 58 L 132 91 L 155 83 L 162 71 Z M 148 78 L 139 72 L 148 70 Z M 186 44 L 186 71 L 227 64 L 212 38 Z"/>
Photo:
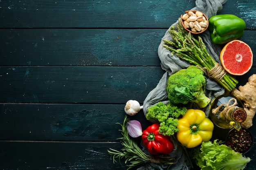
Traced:
<path id="1" fill-rule="evenodd" d="M 228 42 L 220 52 L 222 67 L 233 75 L 243 75 L 252 68 L 252 49 L 243 41 Z"/>

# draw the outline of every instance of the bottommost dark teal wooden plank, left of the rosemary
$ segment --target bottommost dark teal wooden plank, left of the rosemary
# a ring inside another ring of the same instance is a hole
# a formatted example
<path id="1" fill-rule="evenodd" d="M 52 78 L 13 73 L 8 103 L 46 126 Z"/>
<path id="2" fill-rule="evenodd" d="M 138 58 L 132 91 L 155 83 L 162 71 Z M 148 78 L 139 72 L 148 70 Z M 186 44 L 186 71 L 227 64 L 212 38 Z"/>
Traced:
<path id="1" fill-rule="evenodd" d="M 118 142 L 3 142 L 0 141 L 2 170 L 126 170 L 124 161 L 113 163 L 109 148 Z"/>

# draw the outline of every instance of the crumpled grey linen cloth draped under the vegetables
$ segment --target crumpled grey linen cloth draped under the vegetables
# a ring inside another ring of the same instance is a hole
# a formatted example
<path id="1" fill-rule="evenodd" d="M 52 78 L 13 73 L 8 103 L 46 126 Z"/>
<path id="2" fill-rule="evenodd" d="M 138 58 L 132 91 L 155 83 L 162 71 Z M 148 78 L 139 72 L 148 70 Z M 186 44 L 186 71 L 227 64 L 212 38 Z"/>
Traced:
<path id="1" fill-rule="evenodd" d="M 194 7 L 191 10 L 198 10 L 203 12 L 208 18 L 210 18 L 213 15 L 216 15 L 217 12 L 219 12 L 222 9 L 222 5 L 225 4 L 227 0 L 196 0 L 195 4 L 196 7 Z M 176 26 L 178 23 L 175 22 L 171 26 Z M 170 28 L 171 28 L 170 26 Z M 169 28 L 169 29 L 170 29 Z M 172 37 L 169 33 L 169 29 L 166 31 L 164 37 L 162 39 L 168 39 L 172 40 Z M 209 54 L 220 63 L 220 51 L 221 47 L 216 46 L 216 44 L 213 44 L 210 39 L 210 33 L 209 31 L 204 31 L 204 33 L 200 34 L 200 37 L 202 37 L 204 44 L 207 47 L 207 50 Z M 158 48 L 158 56 L 161 60 L 161 67 L 166 72 L 160 79 L 158 85 L 153 89 L 149 94 L 147 95 L 146 99 L 143 103 L 143 111 L 146 116 L 148 113 L 148 108 L 157 104 L 157 102 L 164 102 L 168 103 L 168 95 L 166 92 L 166 86 L 168 82 L 168 77 L 177 72 L 178 70 L 182 68 L 187 68 L 190 63 L 181 60 L 179 57 L 175 56 L 175 54 L 171 54 L 169 50 L 164 48 L 162 45 L 164 44 L 163 41 L 160 42 L 159 48 Z M 218 85 L 215 81 L 207 78 L 207 85 L 206 85 L 206 95 L 213 99 L 216 96 L 219 96 L 221 94 L 225 93 L 225 89 Z M 209 106 L 204 108 L 204 112 L 206 113 L 207 117 L 209 116 Z M 169 167 L 171 170 L 189 170 L 191 169 L 191 165 L 188 161 L 188 158 L 186 157 L 186 154 L 184 153 L 184 149 L 182 149 L 182 146 L 174 142 L 175 150 L 170 154 L 171 157 L 175 158 L 175 163 Z M 146 152 L 146 150 L 144 150 Z M 160 164 L 154 164 L 151 163 L 149 165 L 142 166 L 138 168 L 137 170 L 164 170 L 168 166 L 166 165 L 160 165 Z"/>

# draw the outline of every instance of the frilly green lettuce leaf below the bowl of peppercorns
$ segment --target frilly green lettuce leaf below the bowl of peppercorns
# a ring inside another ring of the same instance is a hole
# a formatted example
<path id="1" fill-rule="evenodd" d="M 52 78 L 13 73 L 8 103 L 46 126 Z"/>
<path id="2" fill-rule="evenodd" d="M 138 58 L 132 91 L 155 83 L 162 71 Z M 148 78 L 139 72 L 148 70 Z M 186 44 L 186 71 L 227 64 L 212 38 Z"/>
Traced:
<path id="1" fill-rule="evenodd" d="M 201 148 L 195 150 L 193 159 L 201 170 L 243 170 L 251 161 L 249 157 L 217 141 L 202 142 Z"/>

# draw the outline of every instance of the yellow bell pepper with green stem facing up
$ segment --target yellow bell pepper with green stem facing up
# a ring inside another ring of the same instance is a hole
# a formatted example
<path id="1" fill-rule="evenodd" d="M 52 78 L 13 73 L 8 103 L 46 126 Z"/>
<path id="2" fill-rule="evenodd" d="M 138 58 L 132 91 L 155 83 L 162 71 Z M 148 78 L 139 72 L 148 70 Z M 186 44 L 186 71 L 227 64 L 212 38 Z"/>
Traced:
<path id="1" fill-rule="evenodd" d="M 178 119 L 179 132 L 177 140 L 187 148 L 194 148 L 211 139 L 213 122 L 205 117 L 205 113 L 199 109 L 188 109 L 186 114 Z"/>

